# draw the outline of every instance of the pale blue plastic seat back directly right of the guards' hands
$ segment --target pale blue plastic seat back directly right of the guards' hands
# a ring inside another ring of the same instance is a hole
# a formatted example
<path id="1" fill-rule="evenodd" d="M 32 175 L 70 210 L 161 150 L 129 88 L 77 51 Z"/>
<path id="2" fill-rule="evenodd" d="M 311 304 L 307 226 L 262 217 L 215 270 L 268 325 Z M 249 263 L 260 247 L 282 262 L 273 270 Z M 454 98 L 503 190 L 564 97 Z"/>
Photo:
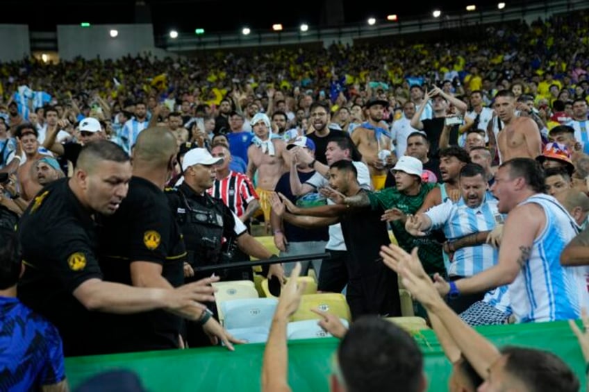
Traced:
<path id="1" fill-rule="evenodd" d="M 275 298 L 247 298 L 221 302 L 224 326 L 235 328 L 265 327 L 272 324 L 272 317 L 278 300 Z"/>

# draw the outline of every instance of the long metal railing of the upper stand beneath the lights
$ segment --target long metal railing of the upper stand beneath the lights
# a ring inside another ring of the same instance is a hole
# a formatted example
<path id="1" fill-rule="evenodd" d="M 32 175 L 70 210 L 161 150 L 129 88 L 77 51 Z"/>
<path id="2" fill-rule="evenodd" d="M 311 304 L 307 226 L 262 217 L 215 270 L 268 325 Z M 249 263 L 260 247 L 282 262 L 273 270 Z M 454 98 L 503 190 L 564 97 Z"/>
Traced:
<path id="1" fill-rule="evenodd" d="M 572 12 L 589 8 L 589 1 L 584 0 L 544 0 L 533 4 L 520 5 L 507 3 L 506 8 L 483 8 L 474 12 L 459 12 L 434 18 L 432 15 L 408 18 L 398 22 L 380 22 L 373 26 L 368 24 L 354 24 L 337 28 L 313 28 L 302 32 L 298 28 L 283 31 L 256 33 L 249 35 L 228 31 L 224 33 L 207 33 L 195 35 L 181 33 L 173 39 L 169 35 L 156 37 L 156 46 L 167 51 L 185 52 L 206 49 L 228 49 L 251 46 L 275 46 L 292 44 L 311 44 L 316 42 L 331 43 L 340 40 L 357 40 L 364 38 L 384 37 L 401 34 L 423 33 L 439 31 L 447 28 L 461 28 L 480 24 L 495 24 L 499 22 L 513 22 L 525 19 L 530 21 L 544 19 L 554 14 Z"/>

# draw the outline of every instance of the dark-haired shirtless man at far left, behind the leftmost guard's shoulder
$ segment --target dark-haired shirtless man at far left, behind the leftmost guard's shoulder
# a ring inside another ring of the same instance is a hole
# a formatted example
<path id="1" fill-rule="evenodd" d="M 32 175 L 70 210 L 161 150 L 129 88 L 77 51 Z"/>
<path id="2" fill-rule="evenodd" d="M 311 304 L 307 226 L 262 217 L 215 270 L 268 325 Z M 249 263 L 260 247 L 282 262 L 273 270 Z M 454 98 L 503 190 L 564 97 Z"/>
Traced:
<path id="1" fill-rule="evenodd" d="M 33 176 L 33 167 L 44 155 L 39 153 L 39 142 L 37 140 L 38 133 L 36 129 L 29 123 L 24 123 L 18 126 L 15 136 L 18 137 L 22 143 L 22 151 L 26 156 L 26 162 L 20 165 L 17 170 L 17 178 L 19 181 L 20 196 L 25 201 L 30 201 L 35 196 L 35 191 L 38 191 L 39 185 Z"/>

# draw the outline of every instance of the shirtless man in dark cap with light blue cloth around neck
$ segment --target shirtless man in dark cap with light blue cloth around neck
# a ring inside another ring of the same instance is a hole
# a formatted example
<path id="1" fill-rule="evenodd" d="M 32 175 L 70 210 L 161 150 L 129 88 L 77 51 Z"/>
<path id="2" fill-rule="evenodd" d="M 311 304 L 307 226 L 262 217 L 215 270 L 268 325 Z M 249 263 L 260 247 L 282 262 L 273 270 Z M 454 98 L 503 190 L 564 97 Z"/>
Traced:
<path id="1" fill-rule="evenodd" d="M 368 121 L 362 123 L 351 134 L 351 139 L 364 157 L 374 190 L 379 191 L 385 186 L 386 166 L 395 164 L 397 159 L 391 152 L 392 144 L 388 127 L 382 121 L 383 112 L 388 107 L 387 101 L 370 99 L 365 105 Z M 387 156 L 386 160 L 381 157 Z"/>

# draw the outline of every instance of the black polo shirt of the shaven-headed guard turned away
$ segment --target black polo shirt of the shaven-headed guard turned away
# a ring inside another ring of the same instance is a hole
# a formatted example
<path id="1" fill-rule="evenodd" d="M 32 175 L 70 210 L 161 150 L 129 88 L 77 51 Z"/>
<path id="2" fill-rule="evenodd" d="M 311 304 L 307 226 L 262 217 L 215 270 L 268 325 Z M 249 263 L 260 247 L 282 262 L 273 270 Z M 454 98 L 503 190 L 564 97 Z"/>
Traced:
<path id="1" fill-rule="evenodd" d="M 104 280 L 133 284 L 132 262 L 162 266 L 173 287 L 184 283 L 186 255 L 181 233 L 164 192 L 152 182 L 131 178 L 119 210 L 99 219 L 99 262 Z M 109 351 L 147 351 L 178 347 L 181 318 L 164 310 L 104 316 L 110 325 Z"/>

